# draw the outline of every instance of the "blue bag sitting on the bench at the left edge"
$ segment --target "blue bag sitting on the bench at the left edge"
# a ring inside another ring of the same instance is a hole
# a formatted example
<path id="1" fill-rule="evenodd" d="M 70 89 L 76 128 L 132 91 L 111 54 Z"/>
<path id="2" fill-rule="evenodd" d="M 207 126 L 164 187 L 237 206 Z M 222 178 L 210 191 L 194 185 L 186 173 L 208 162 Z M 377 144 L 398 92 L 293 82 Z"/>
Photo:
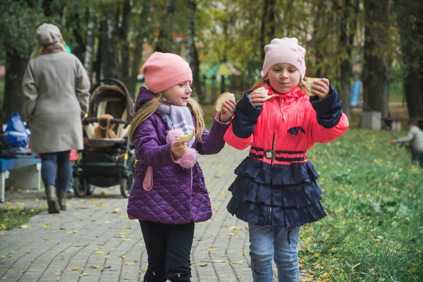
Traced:
<path id="1" fill-rule="evenodd" d="M 3 133 L 7 142 L 13 148 L 27 149 L 30 135 L 17 111 L 13 111 Z"/>

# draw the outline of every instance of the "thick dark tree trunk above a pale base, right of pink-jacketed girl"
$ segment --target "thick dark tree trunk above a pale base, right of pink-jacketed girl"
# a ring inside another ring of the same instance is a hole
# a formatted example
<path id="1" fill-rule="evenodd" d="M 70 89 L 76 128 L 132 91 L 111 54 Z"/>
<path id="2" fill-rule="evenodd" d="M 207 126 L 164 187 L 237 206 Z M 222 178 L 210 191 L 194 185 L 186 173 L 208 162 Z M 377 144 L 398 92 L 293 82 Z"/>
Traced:
<path id="1" fill-rule="evenodd" d="M 384 119 L 389 114 L 388 1 L 366 0 L 364 9 L 363 111 L 380 111 Z"/>

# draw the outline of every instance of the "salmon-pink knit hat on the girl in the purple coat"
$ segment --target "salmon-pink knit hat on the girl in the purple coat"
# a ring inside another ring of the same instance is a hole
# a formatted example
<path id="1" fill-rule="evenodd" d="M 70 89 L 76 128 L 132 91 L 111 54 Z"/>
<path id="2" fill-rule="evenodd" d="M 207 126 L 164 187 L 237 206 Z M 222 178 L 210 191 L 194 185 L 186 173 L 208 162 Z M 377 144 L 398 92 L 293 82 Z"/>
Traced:
<path id="1" fill-rule="evenodd" d="M 145 84 L 154 94 L 186 80 L 192 82 L 190 65 L 176 54 L 154 52 L 145 61 L 141 71 Z"/>

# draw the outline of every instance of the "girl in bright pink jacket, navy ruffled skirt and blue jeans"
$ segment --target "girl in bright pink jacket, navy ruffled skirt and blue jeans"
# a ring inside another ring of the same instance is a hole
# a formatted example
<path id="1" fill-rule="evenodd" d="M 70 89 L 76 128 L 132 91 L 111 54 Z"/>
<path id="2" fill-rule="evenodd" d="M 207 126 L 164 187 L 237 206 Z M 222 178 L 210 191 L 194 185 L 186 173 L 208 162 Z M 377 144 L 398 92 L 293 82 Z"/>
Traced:
<path id="1" fill-rule="evenodd" d="M 298 281 L 299 228 L 326 216 L 306 152 L 343 135 L 348 118 L 329 80 L 307 90 L 298 39 L 273 39 L 264 50 L 264 77 L 245 92 L 224 136 L 236 149 L 251 146 L 235 169 L 227 209 L 248 223 L 254 281 L 273 281 L 272 259 L 279 281 Z"/>

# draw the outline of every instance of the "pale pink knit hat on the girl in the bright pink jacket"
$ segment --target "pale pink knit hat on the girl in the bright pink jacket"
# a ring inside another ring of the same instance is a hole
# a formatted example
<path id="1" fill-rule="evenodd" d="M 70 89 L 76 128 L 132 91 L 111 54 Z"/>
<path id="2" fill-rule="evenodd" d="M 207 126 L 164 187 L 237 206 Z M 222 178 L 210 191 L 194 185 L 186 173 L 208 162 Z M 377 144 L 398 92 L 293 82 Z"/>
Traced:
<path id="1" fill-rule="evenodd" d="M 305 49 L 298 45 L 298 39 L 295 37 L 282 39 L 272 39 L 270 44 L 264 47 L 266 56 L 264 56 L 263 73 L 269 71 L 269 68 L 276 63 L 290 63 L 300 71 L 301 78 L 305 75 Z"/>

